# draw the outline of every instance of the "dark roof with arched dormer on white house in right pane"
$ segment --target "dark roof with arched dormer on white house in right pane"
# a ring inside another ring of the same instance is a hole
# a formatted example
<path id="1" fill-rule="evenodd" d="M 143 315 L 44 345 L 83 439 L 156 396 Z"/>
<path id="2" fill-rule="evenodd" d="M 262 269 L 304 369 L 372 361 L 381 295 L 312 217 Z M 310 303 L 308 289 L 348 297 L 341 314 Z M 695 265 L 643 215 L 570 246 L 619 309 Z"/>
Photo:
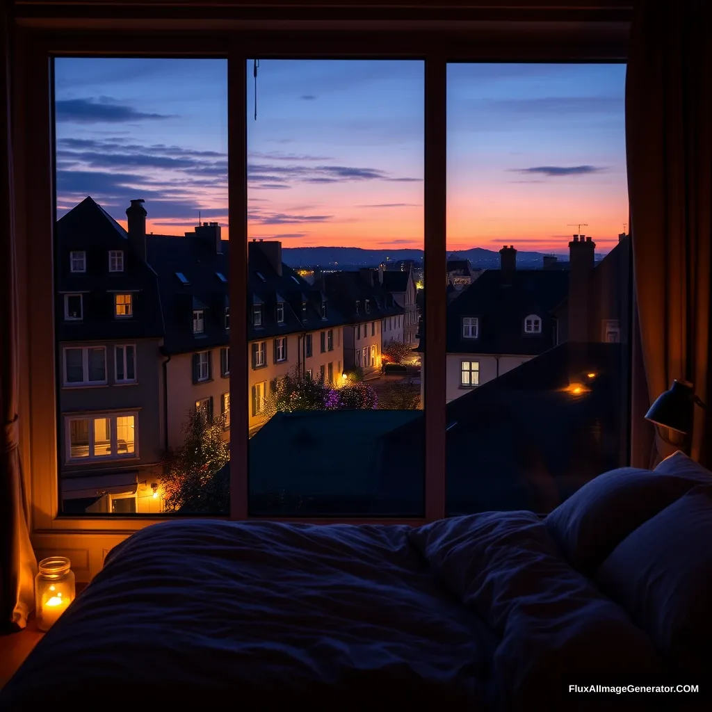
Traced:
<path id="1" fill-rule="evenodd" d="M 486 270 L 447 309 L 447 352 L 535 356 L 553 347 L 551 310 L 568 293 L 564 271 L 513 271 L 506 283 L 501 270 Z M 537 315 L 541 333 L 525 333 L 524 320 Z M 462 318 L 478 318 L 478 337 L 462 337 Z"/>

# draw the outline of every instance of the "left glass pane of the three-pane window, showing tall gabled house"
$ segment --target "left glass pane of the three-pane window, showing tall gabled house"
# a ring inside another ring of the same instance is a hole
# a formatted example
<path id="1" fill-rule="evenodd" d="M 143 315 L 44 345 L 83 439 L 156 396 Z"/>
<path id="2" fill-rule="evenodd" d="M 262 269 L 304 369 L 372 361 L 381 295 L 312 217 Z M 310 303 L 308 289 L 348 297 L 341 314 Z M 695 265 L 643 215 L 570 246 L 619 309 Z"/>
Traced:
<path id="1" fill-rule="evenodd" d="M 227 61 L 53 66 L 61 512 L 226 514 Z"/>

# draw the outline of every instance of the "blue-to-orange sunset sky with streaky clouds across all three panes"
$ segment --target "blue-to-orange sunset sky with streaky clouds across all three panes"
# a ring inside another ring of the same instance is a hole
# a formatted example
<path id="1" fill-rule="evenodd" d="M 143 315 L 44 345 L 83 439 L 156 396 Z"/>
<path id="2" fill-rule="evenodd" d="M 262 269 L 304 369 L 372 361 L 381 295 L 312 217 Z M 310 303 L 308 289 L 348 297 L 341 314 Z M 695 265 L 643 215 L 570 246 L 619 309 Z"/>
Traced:
<path id="1" fill-rule="evenodd" d="M 263 60 L 253 120 L 250 237 L 286 247 L 423 246 L 423 64 Z M 448 247 L 600 251 L 627 221 L 622 65 L 451 65 Z M 56 60 L 58 216 L 91 195 L 148 230 L 198 213 L 227 229 L 227 63 Z M 125 224 L 125 223 L 124 223 Z"/>

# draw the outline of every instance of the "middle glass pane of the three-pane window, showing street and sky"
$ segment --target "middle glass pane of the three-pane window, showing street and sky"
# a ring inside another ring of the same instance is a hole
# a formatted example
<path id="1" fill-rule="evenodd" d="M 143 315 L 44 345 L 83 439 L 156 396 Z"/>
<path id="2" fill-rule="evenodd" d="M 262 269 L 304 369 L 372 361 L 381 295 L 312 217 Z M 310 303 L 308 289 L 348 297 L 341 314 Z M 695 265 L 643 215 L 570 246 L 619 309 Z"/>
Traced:
<path id="1" fill-rule="evenodd" d="M 249 511 L 423 515 L 423 63 L 253 66 Z"/>

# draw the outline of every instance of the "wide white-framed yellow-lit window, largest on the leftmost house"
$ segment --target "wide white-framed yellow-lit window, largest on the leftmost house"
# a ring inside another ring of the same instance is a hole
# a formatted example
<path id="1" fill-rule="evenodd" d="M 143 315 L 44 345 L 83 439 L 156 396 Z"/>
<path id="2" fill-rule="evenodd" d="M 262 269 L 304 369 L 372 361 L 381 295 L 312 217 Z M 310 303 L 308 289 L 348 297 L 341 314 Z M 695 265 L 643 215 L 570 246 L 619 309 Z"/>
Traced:
<path id="1" fill-rule="evenodd" d="M 67 459 L 119 459 L 137 456 L 137 413 L 67 417 Z"/>

